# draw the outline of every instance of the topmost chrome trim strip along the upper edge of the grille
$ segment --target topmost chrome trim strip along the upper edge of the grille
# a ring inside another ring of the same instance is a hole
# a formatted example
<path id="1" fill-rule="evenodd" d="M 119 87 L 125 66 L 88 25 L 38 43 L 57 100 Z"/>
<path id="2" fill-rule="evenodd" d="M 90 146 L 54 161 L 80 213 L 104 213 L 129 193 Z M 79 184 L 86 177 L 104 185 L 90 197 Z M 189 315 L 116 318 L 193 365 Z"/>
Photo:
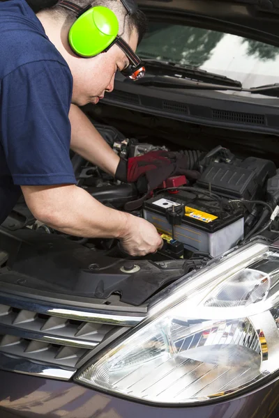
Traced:
<path id="1" fill-rule="evenodd" d="M 84 322 L 106 325 L 119 325 L 122 327 L 134 327 L 146 316 L 143 314 L 127 314 L 127 312 L 112 312 L 109 310 L 74 308 L 67 305 L 44 304 L 31 298 L 0 293 L 0 303 L 17 309 L 33 311 L 37 314 L 59 316 L 61 318 L 83 320 Z"/>

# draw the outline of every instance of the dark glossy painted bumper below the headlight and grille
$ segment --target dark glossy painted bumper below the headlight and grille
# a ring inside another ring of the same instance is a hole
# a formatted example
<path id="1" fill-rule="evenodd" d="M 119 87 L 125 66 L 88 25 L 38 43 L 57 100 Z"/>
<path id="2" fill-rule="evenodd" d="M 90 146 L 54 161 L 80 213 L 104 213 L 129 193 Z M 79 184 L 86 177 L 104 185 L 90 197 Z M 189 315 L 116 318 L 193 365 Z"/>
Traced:
<path id="1" fill-rule="evenodd" d="M 188 408 L 154 408 L 72 382 L 0 371 L 1 418 L 277 418 L 279 380 L 230 401 Z"/>

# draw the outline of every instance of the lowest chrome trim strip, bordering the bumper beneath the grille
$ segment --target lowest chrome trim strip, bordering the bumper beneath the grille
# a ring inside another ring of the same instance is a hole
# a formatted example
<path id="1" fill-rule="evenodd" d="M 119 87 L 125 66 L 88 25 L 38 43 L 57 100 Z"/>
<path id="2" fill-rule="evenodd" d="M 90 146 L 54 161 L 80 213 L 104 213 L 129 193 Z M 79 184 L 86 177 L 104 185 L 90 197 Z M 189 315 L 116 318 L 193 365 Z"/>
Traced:
<path id="1" fill-rule="evenodd" d="M 0 353 L 0 369 L 38 376 L 40 378 L 59 380 L 70 380 L 76 372 L 75 369 L 63 369 L 63 367 L 50 364 L 38 364 L 36 362 L 31 362 L 29 359 L 23 359 L 3 353 Z"/>

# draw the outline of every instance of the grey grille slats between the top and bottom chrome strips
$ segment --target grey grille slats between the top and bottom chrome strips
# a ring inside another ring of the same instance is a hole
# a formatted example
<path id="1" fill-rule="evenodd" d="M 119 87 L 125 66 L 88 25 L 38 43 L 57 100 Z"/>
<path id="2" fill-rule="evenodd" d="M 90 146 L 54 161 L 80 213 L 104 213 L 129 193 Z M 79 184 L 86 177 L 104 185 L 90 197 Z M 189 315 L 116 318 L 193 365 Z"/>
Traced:
<path id="1" fill-rule="evenodd" d="M 87 350 L 100 343 L 112 325 L 37 314 L 0 305 L 1 353 L 75 367 Z"/>

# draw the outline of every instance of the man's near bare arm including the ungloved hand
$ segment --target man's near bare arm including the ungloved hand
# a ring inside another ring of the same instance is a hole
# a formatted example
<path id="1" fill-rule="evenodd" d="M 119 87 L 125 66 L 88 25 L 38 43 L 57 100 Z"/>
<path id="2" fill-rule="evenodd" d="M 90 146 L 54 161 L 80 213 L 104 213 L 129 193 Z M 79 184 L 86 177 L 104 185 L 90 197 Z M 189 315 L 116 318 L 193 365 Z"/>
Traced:
<path id="1" fill-rule="evenodd" d="M 119 238 L 125 251 L 144 256 L 162 246 L 144 219 L 103 206 L 75 185 L 22 186 L 27 206 L 40 222 L 84 238 Z"/>

